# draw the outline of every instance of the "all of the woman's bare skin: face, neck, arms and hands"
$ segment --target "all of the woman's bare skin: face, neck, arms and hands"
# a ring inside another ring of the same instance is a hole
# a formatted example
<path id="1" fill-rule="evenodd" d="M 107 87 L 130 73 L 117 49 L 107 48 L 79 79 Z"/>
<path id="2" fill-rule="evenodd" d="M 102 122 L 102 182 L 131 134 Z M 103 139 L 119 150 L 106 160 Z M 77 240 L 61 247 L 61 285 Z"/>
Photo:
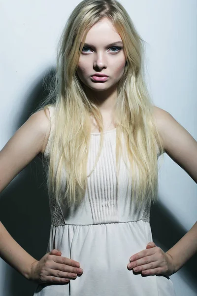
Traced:
<path id="1" fill-rule="evenodd" d="M 126 57 L 123 50 L 108 45 L 122 41 L 108 19 L 103 19 L 91 28 L 86 43 L 92 44 L 82 52 L 77 74 L 85 84 L 87 96 L 94 94 L 100 108 L 104 130 L 109 129 L 113 119 L 113 106 L 117 96 L 116 84 L 123 74 Z M 116 46 L 123 46 L 118 43 Z M 116 51 L 116 53 L 114 53 Z M 94 82 L 90 75 L 104 73 L 105 82 Z M 154 107 L 154 118 L 161 135 L 164 152 L 167 153 L 197 183 L 197 142 L 168 112 Z M 110 129 L 113 129 L 113 123 Z M 92 131 L 97 130 L 92 122 Z M 22 171 L 38 153 L 44 153 L 50 134 L 48 111 L 34 113 L 17 130 L 0 151 L 0 191 Z M 197 222 L 170 250 L 164 252 L 154 242 L 146 250 L 131 254 L 131 268 L 146 275 L 171 275 L 179 270 L 197 251 Z M 61 256 L 52 250 L 39 261 L 29 255 L 0 223 L 0 256 L 27 279 L 36 282 L 68 283 L 83 274 L 80 263 Z M 128 268 L 125 266 L 125 268 Z M 129 271 L 128 271 L 129 272 Z"/>

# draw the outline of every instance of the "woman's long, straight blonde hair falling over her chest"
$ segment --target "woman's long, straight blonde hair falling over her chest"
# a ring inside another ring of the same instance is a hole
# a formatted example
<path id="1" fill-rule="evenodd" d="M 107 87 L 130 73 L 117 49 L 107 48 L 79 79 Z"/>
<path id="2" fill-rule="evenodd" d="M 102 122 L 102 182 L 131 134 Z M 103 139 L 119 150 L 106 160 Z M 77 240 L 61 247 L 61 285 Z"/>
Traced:
<path id="1" fill-rule="evenodd" d="M 124 74 L 117 86 L 115 106 L 116 174 L 118 176 L 123 134 L 130 177 L 132 172 L 131 198 L 139 204 L 154 202 L 158 192 L 157 148 L 160 154 L 164 149 L 154 123 L 153 103 L 144 82 L 143 40 L 118 1 L 83 0 L 66 22 L 58 46 L 55 88 L 44 102 L 46 109 L 51 98 L 55 98 L 52 104 L 55 125 L 47 166 L 48 190 L 58 202 L 68 207 L 82 201 L 87 177 L 95 169 L 103 145 L 101 113 L 98 106 L 88 100 L 76 70 L 88 31 L 104 17 L 112 22 L 122 38 L 127 58 Z M 98 123 L 100 142 L 95 165 L 87 176 L 90 115 Z M 127 165 L 125 158 L 124 161 Z M 66 182 L 66 190 L 63 190 L 62 182 Z"/>

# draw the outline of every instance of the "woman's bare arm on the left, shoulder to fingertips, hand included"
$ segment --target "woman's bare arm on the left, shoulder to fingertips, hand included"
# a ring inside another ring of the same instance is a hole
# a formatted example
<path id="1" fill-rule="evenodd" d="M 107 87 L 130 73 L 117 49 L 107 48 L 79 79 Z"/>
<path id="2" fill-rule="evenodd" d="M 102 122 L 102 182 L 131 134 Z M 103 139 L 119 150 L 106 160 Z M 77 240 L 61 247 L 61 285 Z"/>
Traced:
<path id="1" fill-rule="evenodd" d="M 50 133 L 49 111 L 34 113 L 0 151 L 0 192 L 39 153 L 43 153 Z M 0 257 L 29 280 L 63 283 L 83 273 L 80 263 L 51 250 L 39 261 L 28 254 L 0 223 Z"/>

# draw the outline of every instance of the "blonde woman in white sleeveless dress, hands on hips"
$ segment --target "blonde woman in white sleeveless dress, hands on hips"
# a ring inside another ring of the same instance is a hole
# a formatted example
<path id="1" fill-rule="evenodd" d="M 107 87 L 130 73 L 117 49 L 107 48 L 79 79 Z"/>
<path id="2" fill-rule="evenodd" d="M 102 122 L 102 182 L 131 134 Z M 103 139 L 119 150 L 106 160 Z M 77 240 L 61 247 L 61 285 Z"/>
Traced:
<path id="1" fill-rule="evenodd" d="M 174 296 L 169 276 L 197 251 L 197 223 L 167 252 L 152 241 L 158 157 L 197 182 L 197 142 L 151 103 L 142 45 L 118 1 L 80 2 L 53 93 L 0 151 L 1 191 L 40 152 L 47 172 L 47 254 L 34 259 L 0 224 L 0 255 L 38 283 L 34 296 Z"/>

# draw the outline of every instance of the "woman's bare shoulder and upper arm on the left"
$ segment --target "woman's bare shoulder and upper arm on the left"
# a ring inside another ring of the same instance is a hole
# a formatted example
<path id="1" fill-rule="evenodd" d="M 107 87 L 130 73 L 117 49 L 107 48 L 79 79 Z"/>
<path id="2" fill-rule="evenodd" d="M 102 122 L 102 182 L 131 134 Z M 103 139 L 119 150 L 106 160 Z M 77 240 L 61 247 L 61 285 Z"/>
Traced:
<path id="1" fill-rule="evenodd" d="M 38 153 L 43 153 L 50 133 L 49 111 L 33 113 L 0 150 L 0 191 Z"/>

